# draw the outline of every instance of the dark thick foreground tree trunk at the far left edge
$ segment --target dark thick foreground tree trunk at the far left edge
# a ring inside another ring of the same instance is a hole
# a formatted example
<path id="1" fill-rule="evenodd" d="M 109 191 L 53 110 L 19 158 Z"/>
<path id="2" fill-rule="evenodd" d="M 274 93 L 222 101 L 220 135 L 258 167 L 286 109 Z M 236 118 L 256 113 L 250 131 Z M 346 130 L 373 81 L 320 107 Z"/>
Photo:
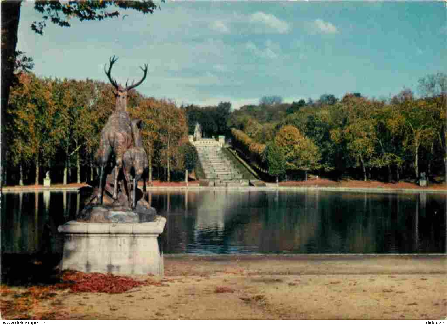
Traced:
<path id="1" fill-rule="evenodd" d="M 21 1 L 1 1 L 1 134 L 0 134 L 0 189 L 3 186 L 6 165 L 6 125 L 8 124 L 9 88 L 13 81 L 17 30 L 20 20 Z"/>

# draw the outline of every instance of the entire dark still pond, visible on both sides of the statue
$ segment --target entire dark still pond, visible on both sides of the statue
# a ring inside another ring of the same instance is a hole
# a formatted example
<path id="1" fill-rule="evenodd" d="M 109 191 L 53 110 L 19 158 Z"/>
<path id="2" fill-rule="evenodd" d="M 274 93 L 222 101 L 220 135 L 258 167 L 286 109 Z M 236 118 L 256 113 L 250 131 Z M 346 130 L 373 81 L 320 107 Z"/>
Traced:
<path id="1" fill-rule="evenodd" d="M 168 222 L 164 253 L 445 253 L 446 194 L 326 191 L 154 191 Z M 1 248 L 61 253 L 57 227 L 83 207 L 77 192 L 4 193 Z"/>

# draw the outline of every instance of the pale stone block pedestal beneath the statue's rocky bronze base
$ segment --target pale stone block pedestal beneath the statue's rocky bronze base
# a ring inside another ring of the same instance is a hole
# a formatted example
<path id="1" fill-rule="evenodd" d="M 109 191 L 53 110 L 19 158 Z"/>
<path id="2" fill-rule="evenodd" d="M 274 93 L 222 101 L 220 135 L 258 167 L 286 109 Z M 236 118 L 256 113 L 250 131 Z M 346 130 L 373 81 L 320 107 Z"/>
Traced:
<path id="1" fill-rule="evenodd" d="M 166 218 L 153 222 L 89 223 L 70 221 L 64 234 L 63 270 L 163 276 L 159 235 Z"/>

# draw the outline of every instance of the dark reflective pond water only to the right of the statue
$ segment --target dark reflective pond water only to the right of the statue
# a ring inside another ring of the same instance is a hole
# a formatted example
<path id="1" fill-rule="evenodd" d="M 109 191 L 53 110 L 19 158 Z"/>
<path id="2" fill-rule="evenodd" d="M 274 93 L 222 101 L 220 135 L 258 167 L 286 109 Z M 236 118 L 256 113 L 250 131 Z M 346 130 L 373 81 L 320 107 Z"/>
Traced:
<path id="1" fill-rule="evenodd" d="M 167 253 L 443 253 L 446 195 L 152 193 Z"/>

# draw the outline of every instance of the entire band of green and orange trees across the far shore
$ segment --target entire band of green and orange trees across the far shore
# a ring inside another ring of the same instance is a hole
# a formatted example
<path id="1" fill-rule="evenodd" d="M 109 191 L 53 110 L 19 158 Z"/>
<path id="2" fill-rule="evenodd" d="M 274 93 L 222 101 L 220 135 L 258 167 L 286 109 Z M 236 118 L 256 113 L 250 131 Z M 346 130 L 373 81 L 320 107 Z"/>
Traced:
<path id="1" fill-rule="evenodd" d="M 200 177 L 195 148 L 186 140 L 188 128 L 191 132 L 199 122 L 208 136 L 224 134 L 232 126 L 233 147 L 272 176 L 284 169 L 339 175 L 360 171 L 363 179 L 386 174 L 392 180 L 422 171 L 440 173 L 447 161 L 443 79 L 429 77 L 420 81 L 425 87 L 421 99 L 404 90 L 389 102 L 346 94 L 330 105 L 301 100 L 231 111 L 231 103 L 180 109 L 172 101 L 145 98 L 134 90 L 129 92 L 128 111 L 143 120 L 150 169 L 166 168 L 168 176 L 195 169 Z M 42 166 L 62 169 L 75 161 L 91 169 L 101 129 L 114 111 L 113 87 L 26 72 L 17 78 L 5 126 L 11 144 L 8 161 L 25 174 L 33 174 L 33 167 L 38 173 Z M 299 109 L 287 114 L 291 106 Z"/>

